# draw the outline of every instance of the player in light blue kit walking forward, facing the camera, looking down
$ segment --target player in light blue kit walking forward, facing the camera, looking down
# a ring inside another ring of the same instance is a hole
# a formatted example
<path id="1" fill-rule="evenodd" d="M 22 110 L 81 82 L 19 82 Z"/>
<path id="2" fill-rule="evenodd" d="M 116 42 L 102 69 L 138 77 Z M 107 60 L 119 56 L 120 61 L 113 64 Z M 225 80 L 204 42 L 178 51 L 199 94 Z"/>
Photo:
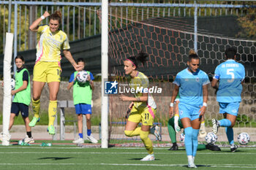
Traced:
<path id="1" fill-rule="evenodd" d="M 173 115 L 173 102 L 179 93 L 180 103 L 178 104 L 179 116 L 186 134 L 185 147 L 189 168 L 195 166 L 195 155 L 197 152 L 197 135 L 203 115 L 206 112 L 208 100 L 208 84 L 210 83 L 205 72 L 198 69 L 199 57 L 195 51 L 189 51 L 189 61 L 187 69 L 178 72 L 173 84 L 172 99 L 170 101 L 170 115 Z"/>

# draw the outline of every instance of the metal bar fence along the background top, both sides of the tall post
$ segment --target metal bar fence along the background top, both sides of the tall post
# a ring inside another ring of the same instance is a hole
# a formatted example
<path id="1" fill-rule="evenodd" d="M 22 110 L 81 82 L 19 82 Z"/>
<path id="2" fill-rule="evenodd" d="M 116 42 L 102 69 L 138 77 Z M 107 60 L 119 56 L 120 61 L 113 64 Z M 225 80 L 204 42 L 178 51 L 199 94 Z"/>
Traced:
<path id="1" fill-rule="evenodd" d="M 141 1 L 143 2 L 143 1 Z M 147 3 L 145 3 L 147 2 Z M 157 3 L 153 3 L 157 2 Z M 193 17 L 245 15 L 246 4 L 227 3 L 208 4 L 209 1 L 197 1 L 191 4 L 189 1 L 144 1 L 144 3 L 129 3 L 129 1 L 111 1 L 110 15 L 120 12 L 119 15 L 127 16 L 132 20 L 154 17 Z M 177 2 L 180 2 L 177 4 Z M 203 2 L 207 2 L 203 3 Z M 182 3 L 182 4 L 181 4 Z M 39 18 L 45 10 L 53 12 L 56 9 L 62 12 L 61 29 L 65 31 L 70 41 L 83 39 L 88 36 L 100 34 L 100 22 L 97 10 L 100 9 L 100 1 L 12 1 L 11 30 L 15 33 L 15 50 L 29 50 L 35 47 L 37 35 L 29 31 L 29 25 Z M 197 13 L 195 13 L 195 7 Z M 8 1 L 0 1 L 0 53 L 4 50 L 5 32 L 8 23 Z M 48 24 L 48 19 L 42 24 Z"/>

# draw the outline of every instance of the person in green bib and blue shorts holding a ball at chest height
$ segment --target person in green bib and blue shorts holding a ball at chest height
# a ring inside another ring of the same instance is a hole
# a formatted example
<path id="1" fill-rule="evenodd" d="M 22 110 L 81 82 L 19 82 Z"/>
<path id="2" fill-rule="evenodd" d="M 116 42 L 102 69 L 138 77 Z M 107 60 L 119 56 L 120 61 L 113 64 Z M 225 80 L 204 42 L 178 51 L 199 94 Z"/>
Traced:
<path id="1" fill-rule="evenodd" d="M 78 66 L 86 65 L 83 58 L 78 58 L 77 61 Z M 74 140 L 75 144 L 82 144 L 84 142 L 83 139 L 83 115 L 86 115 L 86 125 L 87 125 L 87 136 L 90 142 L 96 144 L 98 141 L 94 139 L 91 135 L 91 97 L 92 90 L 94 90 L 94 76 L 91 72 L 86 71 L 89 75 L 87 81 L 85 83 L 80 83 L 76 79 L 78 72 L 74 72 L 69 78 L 69 85 L 67 89 L 69 90 L 73 86 L 73 100 L 75 105 L 75 112 L 78 115 L 78 139 Z"/>

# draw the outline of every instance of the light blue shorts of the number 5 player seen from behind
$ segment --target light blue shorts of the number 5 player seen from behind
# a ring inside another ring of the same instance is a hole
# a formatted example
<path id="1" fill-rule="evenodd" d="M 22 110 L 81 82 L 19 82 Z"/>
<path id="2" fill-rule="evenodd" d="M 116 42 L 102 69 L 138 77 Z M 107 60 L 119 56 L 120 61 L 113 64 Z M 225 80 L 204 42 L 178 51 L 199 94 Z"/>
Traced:
<path id="1" fill-rule="evenodd" d="M 230 115 L 237 116 L 240 102 L 233 103 L 221 103 L 219 102 L 219 113 L 228 113 Z"/>

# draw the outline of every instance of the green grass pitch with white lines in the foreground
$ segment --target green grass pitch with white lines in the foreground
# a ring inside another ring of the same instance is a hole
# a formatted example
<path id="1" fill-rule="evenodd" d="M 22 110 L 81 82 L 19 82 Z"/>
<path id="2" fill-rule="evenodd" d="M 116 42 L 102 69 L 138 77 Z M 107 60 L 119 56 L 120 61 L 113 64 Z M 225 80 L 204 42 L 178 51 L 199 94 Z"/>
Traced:
<path id="1" fill-rule="evenodd" d="M 154 148 L 156 160 L 143 162 L 140 159 L 147 155 L 143 147 L 82 148 L 61 142 L 52 147 L 14 144 L 0 146 L 0 169 L 188 169 L 184 147 L 178 151 L 167 149 Z M 197 151 L 195 164 L 198 169 L 256 169 L 256 148 L 238 148 L 238 152 L 221 149 L 221 152 Z"/>

